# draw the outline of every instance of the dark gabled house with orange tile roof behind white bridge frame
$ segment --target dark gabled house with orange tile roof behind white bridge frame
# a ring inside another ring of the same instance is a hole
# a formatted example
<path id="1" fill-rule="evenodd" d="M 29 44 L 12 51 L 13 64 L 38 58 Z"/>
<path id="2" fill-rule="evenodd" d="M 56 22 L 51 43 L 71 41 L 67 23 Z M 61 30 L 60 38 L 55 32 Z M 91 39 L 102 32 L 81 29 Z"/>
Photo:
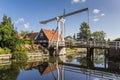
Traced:
<path id="1" fill-rule="evenodd" d="M 58 32 L 55 33 L 55 30 L 41 29 L 38 36 L 35 39 L 36 44 L 40 44 L 43 47 L 48 47 L 51 40 L 57 41 Z"/>

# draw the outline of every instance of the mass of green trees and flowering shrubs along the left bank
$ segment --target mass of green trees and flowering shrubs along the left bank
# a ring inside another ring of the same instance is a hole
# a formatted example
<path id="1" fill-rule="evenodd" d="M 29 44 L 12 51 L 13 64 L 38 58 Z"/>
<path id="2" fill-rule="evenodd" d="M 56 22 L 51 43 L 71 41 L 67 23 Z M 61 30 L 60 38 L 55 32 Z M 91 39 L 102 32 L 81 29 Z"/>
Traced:
<path id="1" fill-rule="evenodd" d="M 12 59 L 26 60 L 26 53 L 39 51 L 33 40 L 20 37 L 10 17 L 3 16 L 0 22 L 0 54 L 11 54 Z"/>

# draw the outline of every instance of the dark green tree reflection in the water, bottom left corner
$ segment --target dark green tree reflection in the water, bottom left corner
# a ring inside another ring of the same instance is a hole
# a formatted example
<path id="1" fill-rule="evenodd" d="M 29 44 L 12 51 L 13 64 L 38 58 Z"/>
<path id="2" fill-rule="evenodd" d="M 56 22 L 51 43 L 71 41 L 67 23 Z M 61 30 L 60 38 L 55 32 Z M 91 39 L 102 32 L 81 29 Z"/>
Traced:
<path id="1" fill-rule="evenodd" d="M 5 65 L 6 61 L 3 61 L 3 65 L 0 65 L 0 80 L 16 80 L 19 70 L 23 69 L 24 63 L 10 62 Z"/>

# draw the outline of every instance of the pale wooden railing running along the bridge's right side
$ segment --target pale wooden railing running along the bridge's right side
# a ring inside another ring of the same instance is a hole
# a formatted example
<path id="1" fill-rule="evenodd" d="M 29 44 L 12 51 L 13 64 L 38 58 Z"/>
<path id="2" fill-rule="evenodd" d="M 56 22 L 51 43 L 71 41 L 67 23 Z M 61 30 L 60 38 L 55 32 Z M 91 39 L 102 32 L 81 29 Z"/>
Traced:
<path id="1" fill-rule="evenodd" d="M 57 41 L 52 45 L 56 46 Z M 120 48 L 120 41 L 60 41 L 59 46 L 81 46 L 81 47 L 100 47 L 100 48 Z"/>

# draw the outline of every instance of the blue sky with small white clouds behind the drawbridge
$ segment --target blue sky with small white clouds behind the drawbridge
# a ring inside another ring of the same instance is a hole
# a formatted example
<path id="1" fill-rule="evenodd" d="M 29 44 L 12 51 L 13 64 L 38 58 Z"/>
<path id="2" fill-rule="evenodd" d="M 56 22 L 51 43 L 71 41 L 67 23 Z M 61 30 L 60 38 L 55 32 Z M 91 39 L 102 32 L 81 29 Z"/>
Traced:
<path id="1" fill-rule="evenodd" d="M 65 18 L 65 36 L 77 34 L 82 22 L 87 22 L 91 32 L 104 31 L 106 39 L 120 37 L 120 0 L 0 0 L 0 22 L 3 15 L 11 17 L 18 32 L 39 32 L 41 28 L 56 29 L 56 21 L 48 20 L 83 8 L 81 12 Z"/>

